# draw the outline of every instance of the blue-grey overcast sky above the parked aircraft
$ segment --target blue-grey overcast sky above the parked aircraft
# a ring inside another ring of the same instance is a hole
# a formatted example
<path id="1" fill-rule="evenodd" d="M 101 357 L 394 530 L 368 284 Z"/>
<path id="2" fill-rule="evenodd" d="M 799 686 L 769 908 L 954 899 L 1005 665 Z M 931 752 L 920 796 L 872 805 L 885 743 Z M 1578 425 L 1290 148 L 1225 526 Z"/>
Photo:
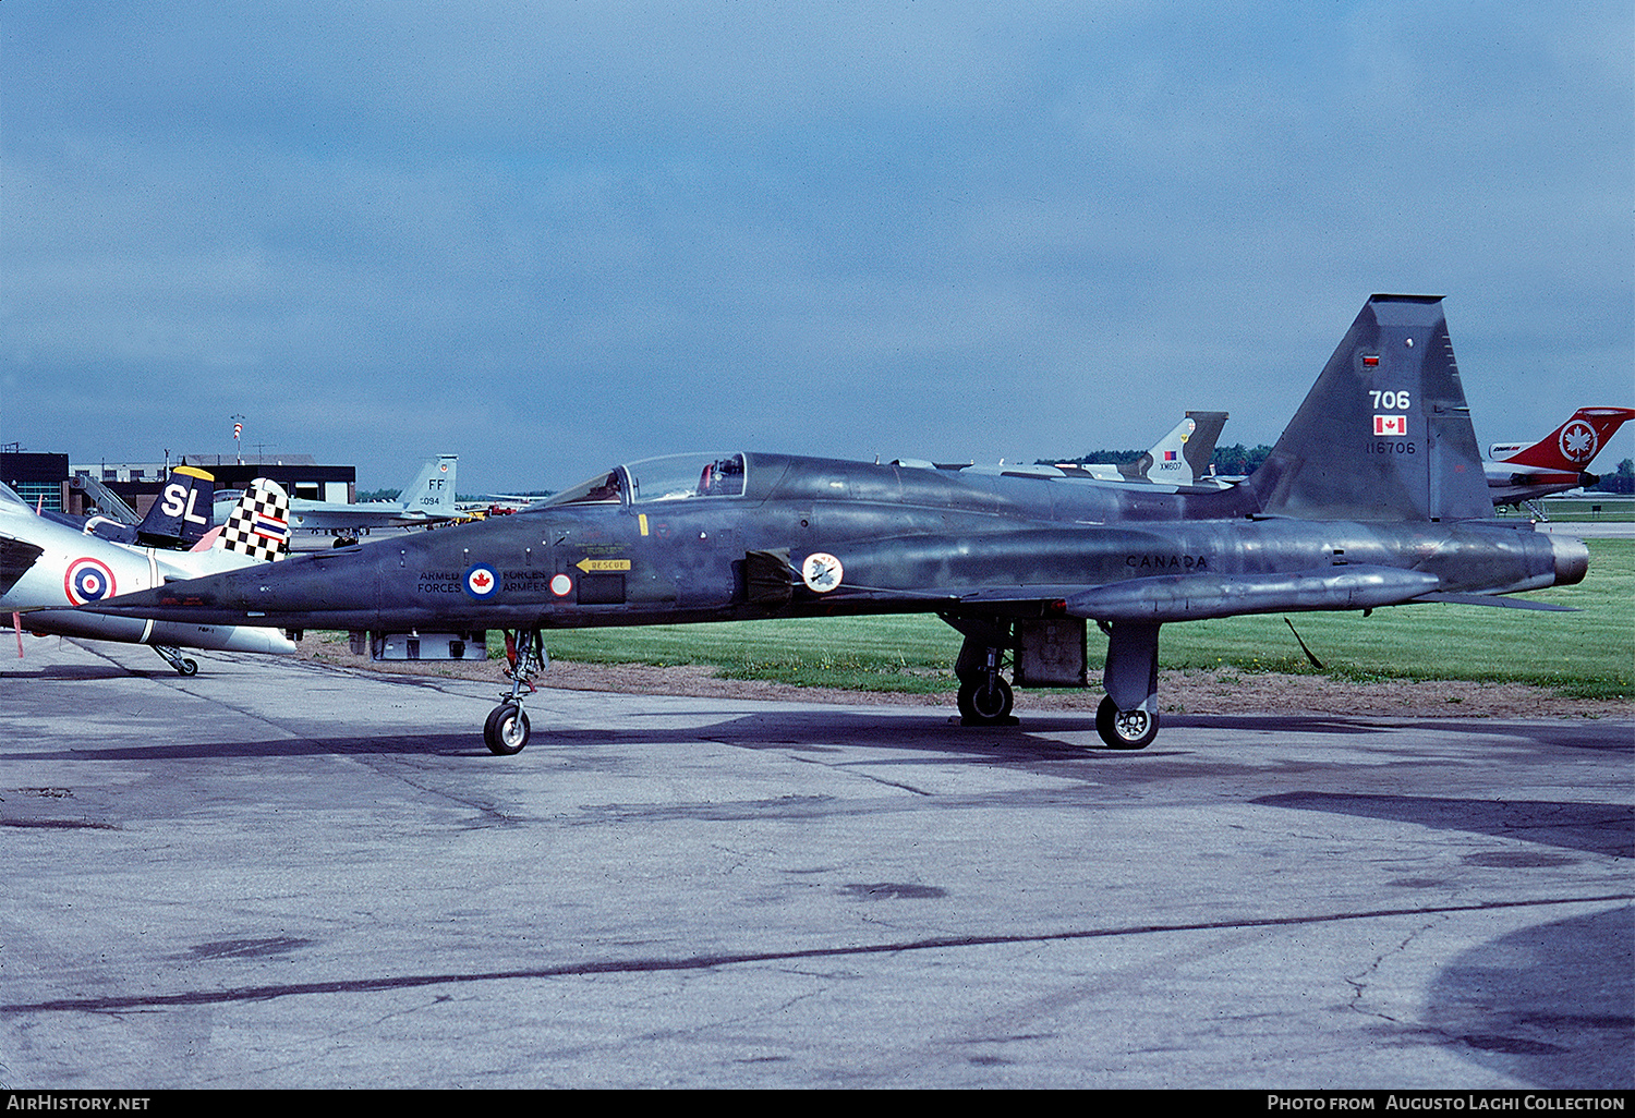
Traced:
<path id="1" fill-rule="evenodd" d="M 1628 0 L 0 7 L 0 443 L 561 487 L 1269 443 L 1373 291 L 1635 405 Z M 1625 432 L 1597 459 L 1635 456 Z"/>

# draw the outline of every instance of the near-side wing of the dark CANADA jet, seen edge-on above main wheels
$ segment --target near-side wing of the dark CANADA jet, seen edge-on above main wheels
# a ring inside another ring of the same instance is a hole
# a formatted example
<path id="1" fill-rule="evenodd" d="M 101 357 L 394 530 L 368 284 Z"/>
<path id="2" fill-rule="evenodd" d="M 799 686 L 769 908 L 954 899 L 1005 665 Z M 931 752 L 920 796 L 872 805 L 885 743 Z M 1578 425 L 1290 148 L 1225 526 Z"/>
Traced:
<path id="1" fill-rule="evenodd" d="M 1202 621 L 1283 610 L 1372 610 L 1432 593 L 1422 570 L 1352 564 L 1300 574 L 1164 575 L 1115 582 L 1068 598 L 1068 613 L 1095 621 Z"/>

